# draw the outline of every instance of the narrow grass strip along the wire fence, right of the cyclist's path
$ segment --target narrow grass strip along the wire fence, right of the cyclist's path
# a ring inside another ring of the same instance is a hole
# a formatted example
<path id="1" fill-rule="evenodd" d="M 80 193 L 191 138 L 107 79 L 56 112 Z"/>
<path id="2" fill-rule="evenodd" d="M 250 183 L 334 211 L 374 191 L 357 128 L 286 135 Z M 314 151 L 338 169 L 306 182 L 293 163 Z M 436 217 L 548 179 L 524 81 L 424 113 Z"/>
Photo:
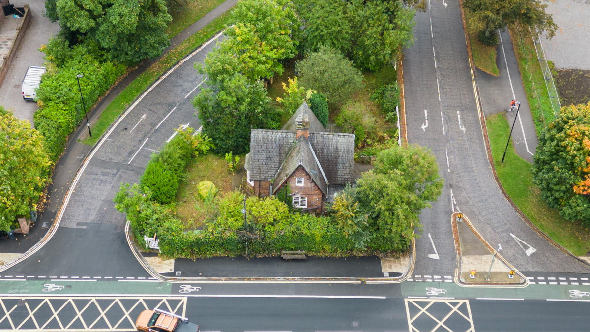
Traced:
<path id="1" fill-rule="evenodd" d="M 518 26 L 510 27 L 510 38 L 519 64 L 520 77 L 525 86 L 526 99 L 533 115 L 537 136 L 549 122 L 555 119 L 543 71 L 535 52 L 535 45 L 529 30 Z"/>

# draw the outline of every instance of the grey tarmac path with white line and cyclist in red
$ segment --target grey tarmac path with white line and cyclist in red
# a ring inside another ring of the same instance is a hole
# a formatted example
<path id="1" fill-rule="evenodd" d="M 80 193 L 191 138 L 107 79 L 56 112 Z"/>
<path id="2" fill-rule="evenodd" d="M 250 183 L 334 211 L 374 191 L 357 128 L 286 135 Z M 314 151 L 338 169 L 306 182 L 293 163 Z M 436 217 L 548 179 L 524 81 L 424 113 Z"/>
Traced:
<path id="1" fill-rule="evenodd" d="M 526 99 L 522 79 L 520 79 L 520 70 L 516 56 L 514 56 L 510 34 L 508 31 L 504 31 L 500 33 L 500 37 L 501 43 L 498 44 L 496 58 L 496 65 L 500 70 L 500 76 L 495 77 L 479 69 L 476 71 L 481 107 L 486 116 L 506 112 L 504 116 L 508 120 L 509 125 L 512 126 L 516 112 L 512 115 L 507 110 L 512 99 L 520 101 L 520 110 L 516 123 L 514 123 L 511 140 L 516 153 L 524 160 L 532 163 L 533 154 L 535 154 L 537 145 L 539 145 L 535 123 L 530 113 L 529 102 Z"/>

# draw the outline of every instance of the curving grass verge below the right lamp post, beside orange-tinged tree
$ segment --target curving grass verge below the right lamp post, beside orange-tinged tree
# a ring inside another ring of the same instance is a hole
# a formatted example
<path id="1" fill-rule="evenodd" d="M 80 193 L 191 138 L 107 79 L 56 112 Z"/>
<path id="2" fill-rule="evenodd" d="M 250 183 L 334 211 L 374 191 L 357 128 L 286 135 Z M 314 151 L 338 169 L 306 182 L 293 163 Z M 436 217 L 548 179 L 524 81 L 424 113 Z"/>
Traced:
<path id="1" fill-rule="evenodd" d="M 535 226 L 555 242 L 576 256 L 584 256 L 590 250 L 590 227 L 569 222 L 550 209 L 541 198 L 539 188 L 533 184 L 532 165 L 520 158 L 512 145 L 506 152 L 504 164 L 500 163 L 510 125 L 502 114 L 491 115 L 486 120 L 491 154 L 500 183 L 512 201 Z"/>

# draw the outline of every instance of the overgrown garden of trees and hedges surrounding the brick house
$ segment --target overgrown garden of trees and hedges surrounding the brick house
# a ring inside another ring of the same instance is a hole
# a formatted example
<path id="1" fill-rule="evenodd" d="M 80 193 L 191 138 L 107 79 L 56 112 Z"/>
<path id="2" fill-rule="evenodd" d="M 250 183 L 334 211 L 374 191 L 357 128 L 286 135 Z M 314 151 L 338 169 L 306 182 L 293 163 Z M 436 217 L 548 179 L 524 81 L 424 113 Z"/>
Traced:
<path id="1" fill-rule="evenodd" d="M 194 100 L 205 134 L 175 140 L 198 137 L 216 154 L 241 155 L 248 151 L 251 128 L 280 128 L 307 101 L 323 125 L 335 122 L 355 132 L 357 149 L 375 157 L 375 169 L 339 194 L 323 216 L 290 207 L 284 193 L 248 197 L 244 191 L 220 192 L 204 179 L 195 195 L 200 220 L 192 224 L 182 222 L 171 196 L 162 200 L 155 194 L 159 189 L 150 185 L 158 181 L 150 184 L 144 175 L 139 185 L 123 185 L 115 198 L 138 242 L 157 233 L 162 254 L 175 258 L 406 250 L 420 227 L 419 212 L 442 187 L 428 149 L 397 145 L 393 67 L 411 40 L 413 15 L 397 1 L 238 2 L 227 38 L 198 67 L 209 78 Z M 175 140 L 170 144 L 181 147 Z M 146 174 L 163 174 L 161 162 L 154 156 Z M 163 187 L 172 192 L 170 185 Z"/>

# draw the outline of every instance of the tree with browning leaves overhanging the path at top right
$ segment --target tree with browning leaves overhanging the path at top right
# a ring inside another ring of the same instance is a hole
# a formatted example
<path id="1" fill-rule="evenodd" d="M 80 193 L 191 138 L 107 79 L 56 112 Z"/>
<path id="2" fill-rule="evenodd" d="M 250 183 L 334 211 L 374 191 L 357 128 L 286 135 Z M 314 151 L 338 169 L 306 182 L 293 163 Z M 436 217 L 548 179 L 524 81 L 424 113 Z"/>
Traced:
<path id="1" fill-rule="evenodd" d="M 516 22 L 546 31 L 549 37 L 558 28 L 539 0 L 464 0 L 463 7 L 471 12 L 467 24 L 480 31 L 478 38 L 484 44 L 496 44 L 494 31 Z"/>

